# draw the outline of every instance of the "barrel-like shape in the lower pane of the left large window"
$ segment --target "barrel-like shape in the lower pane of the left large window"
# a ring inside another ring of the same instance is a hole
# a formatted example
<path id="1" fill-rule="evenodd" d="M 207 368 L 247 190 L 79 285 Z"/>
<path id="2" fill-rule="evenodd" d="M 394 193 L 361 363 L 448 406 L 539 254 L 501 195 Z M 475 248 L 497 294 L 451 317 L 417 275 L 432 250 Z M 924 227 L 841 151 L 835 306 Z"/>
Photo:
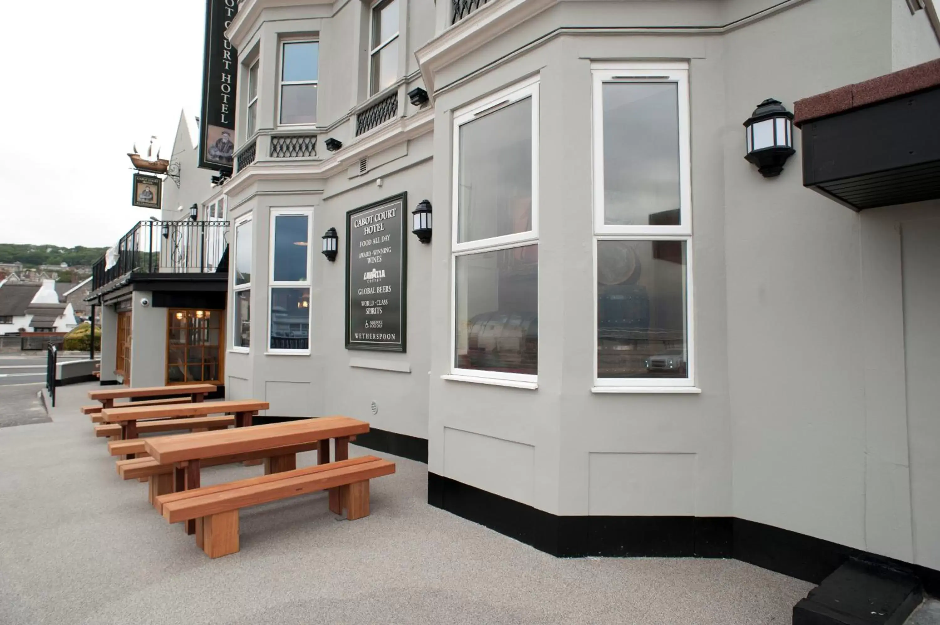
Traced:
<path id="1" fill-rule="evenodd" d="M 469 368 L 535 375 L 539 357 L 539 319 L 535 313 L 482 313 L 467 332 Z"/>

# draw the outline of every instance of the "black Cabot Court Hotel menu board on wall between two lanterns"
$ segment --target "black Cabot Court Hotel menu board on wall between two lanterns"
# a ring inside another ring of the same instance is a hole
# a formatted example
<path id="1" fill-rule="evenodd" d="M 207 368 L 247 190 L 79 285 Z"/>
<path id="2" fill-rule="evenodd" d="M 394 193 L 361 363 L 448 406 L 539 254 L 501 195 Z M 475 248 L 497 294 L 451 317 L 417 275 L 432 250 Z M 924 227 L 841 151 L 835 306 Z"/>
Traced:
<path id="1" fill-rule="evenodd" d="M 405 351 L 408 195 L 346 213 L 346 349 Z"/>

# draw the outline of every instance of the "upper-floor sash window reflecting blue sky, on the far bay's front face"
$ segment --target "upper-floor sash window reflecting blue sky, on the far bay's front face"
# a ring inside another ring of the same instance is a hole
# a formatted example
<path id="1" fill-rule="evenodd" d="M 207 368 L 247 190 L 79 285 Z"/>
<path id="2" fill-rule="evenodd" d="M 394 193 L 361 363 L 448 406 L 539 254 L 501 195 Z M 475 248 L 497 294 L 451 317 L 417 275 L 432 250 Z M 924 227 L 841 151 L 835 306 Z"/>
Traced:
<path id="1" fill-rule="evenodd" d="M 317 122 L 319 59 L 318 41 L 284 41 L 281 44 L 281 125 Z"/>

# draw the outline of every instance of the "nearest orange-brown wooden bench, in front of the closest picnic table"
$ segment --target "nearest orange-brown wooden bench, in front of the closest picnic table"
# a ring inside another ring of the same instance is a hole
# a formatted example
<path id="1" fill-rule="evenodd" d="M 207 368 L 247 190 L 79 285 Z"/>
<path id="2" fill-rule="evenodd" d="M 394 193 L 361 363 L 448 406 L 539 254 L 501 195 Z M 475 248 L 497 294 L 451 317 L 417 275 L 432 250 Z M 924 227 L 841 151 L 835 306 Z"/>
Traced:
<path id="1" fill-rule="evenodd" d="M 395 473 L 395 463 L 374 456 L 318 464 L 156 497 L 169 523 L 196 520 L 196 545 L 210 557 L 239 550 L 239 510 L 308 492 L 338 489 L 330 509 L 350 521 L 368 516 L 368 480 Z"/>

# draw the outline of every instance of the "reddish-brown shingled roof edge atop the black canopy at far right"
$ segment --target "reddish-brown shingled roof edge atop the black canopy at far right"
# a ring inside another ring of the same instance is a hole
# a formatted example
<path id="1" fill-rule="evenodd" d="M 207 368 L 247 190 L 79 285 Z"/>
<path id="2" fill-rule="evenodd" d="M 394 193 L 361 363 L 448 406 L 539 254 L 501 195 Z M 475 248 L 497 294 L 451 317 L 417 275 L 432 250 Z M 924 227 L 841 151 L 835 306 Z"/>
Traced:
<path id="1" fill-rule="evenodd" d="M 846 113 L 935 86 L 940 86 L 940 59 L 797 100 L 793 102 L 793 123 L 799 127 L 813 119 Z"/>

